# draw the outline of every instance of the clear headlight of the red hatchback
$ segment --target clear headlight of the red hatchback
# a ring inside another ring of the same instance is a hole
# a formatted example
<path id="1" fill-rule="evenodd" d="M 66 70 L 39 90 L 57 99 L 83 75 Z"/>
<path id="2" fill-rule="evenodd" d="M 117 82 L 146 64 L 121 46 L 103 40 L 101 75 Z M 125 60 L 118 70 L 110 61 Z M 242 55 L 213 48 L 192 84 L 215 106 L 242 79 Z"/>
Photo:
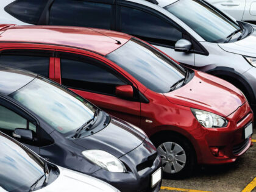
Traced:
<path id="1" fill-rule="evenodd" d="M 197 121 L 204 127 L 219 128 L 227 126 L 227 120 L 219 115 L 205 112 L 196 108 L 191 108 L 191 111 L 196 117 Z"/>

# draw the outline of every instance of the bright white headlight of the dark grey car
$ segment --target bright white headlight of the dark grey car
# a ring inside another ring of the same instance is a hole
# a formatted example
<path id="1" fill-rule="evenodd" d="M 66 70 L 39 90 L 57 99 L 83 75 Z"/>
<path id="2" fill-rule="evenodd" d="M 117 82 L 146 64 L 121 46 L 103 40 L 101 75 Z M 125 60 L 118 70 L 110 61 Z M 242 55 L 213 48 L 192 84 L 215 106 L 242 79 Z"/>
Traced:
<path id="1" fill-rule="evenodd" d="M 91 162 L 110 172 L 126 172 L 126 166 L 115 156 L 98 149 L 83 151 L 82 154 Z"/>

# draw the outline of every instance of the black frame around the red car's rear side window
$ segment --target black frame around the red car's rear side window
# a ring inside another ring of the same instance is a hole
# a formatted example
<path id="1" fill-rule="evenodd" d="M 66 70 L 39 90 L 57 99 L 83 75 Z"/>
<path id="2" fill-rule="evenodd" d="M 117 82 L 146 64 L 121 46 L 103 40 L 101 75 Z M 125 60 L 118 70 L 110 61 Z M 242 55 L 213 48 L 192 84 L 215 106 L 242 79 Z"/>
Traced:
<path id="1" fill-rule="evenodd" d="M 48 65 L 48 77 L 51 74 L 51 61 L 50 58 L 54 57 L 54 51 L 43 50 L 43 49 L 3 49 L 0 51 L 1 55 L 16 55 L 16 56 L 30 56 L 30 57 L 48 57 L 49 58 L 49 65 Z M 8 65 L 5 65 L 8 66 Z M 26 70 L 26 69 L 24 69 Z M 32 72 L 34 73 L 34 72 Z M 39 74 L 41 75 L 41 74 Z"/>

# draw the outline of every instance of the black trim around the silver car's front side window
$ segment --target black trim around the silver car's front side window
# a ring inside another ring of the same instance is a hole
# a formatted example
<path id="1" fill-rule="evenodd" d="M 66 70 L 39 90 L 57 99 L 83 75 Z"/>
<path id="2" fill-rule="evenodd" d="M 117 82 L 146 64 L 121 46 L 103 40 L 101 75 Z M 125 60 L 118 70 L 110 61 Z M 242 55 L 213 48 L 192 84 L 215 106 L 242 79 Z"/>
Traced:
<path id="1" fill-rule="evenodd" d="M 192 49 L 190 51 L 191 53 L 201 54 L 201 55 L 209 55 L 209 52 L 207 51 L 207 49 L 205 49 L 201 43 L 199 43 L 193 36 L 191 36 L 190 33 L 187 32 L 187 30 L 183 29 L 183 27 L 180 27 L 179 24 L 177 24 L 175 21 L 172 21 L 170 18 L 168 18 L 167 16 L 158 12 L 157 10 L 151 9 L 150 7 L 138 4 L 136 2 L 120 1 L 120 0 L 118 1 L 117 12 L 116 12 L 116 29 L 115 30 L 121 32 L 121 15 L 120 15 L 121 14 L 121 6 L 141 10 L 141 11 L 149 13 L 153 16 L 157 16 L 158 18 L 160 18 L 163 21 L 166 21 L 167 23 L 174 26 L 177 30 L 180 30 L 180 32 L 182 33 L 182 38 L 186 38 L 186 39 L 190 40 L 192 44 L 196 44 L 196 46 L 198 46 L 198 48 L 201 49 L 201 50 Z M 170 46 L 168 44 L 155 43 L 152 41 L 148 41 L 148 43 L 155 44 L 157 46 L 163 46 L 166 48 L 174 49 L 174 46 Z"/>

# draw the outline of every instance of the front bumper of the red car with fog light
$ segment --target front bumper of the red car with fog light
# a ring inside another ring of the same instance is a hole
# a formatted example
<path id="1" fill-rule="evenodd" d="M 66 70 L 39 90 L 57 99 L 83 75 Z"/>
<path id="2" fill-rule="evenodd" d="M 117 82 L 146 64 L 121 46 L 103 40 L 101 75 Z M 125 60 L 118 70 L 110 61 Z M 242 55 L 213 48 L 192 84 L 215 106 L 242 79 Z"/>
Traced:
<path id="1" fill-rule="evenodd" d="M 244 127 L 253 123 L 253 113 L 246 102 L 231 115 L 225 128 L 205 129 L 204 136 L 197 140 L 202 157 L 199 164 L 223 164 L 235 162 L 252 145 L 251 137 L 244 138 Z M 214 149 L 214 150 L 213 150 Z M 218 152 L 216 152 L 218 151 Z"/>

